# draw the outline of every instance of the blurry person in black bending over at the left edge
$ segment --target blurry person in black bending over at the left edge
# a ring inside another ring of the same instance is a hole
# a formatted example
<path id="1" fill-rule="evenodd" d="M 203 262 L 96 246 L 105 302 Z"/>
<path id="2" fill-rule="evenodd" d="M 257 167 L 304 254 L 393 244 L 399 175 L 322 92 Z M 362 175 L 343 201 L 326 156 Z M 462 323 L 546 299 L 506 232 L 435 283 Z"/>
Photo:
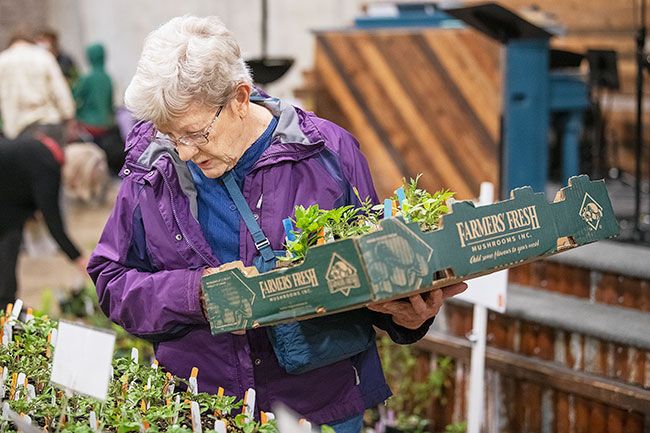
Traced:
<path id="1" fill-rule="evenodd" d="M 14 302 L 25 222 L 41 211 L 59 247 L 82 274 L 87 260 L 67 236 L 59 190 L 63 151 L 51 138 L 0 139 L 0 305 Z"/>

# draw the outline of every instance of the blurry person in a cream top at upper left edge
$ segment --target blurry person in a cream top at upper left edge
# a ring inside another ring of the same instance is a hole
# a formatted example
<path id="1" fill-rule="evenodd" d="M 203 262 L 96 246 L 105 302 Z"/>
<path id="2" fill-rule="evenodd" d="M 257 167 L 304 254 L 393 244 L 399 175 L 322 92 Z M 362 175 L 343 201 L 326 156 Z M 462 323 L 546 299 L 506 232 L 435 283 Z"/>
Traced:
<path id="1" fill-rule="evenodd" d="M 64 142 L 74 120 L 74 100 L 56 59 L 16 33 L 0 53 L 0 115 L 5 137 L 45 134 Z"/>

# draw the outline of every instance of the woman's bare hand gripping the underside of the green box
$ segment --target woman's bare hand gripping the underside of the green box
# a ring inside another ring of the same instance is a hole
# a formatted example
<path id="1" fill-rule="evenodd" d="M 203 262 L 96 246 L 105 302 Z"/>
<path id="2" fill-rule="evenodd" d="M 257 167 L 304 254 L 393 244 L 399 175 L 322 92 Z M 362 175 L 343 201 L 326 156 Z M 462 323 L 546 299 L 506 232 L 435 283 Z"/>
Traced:
<path id="1" fill-rule="evenodd" d="M 390 314 L 393 322 L 408 329 L 418 329 L 427 320 L 438 314 L 445 299 L 456 296 L 467 289 L 467 284 L 458 283 L 433 289 L 408 298 L 378 302 L 368 305 L 368 309 Z"/>

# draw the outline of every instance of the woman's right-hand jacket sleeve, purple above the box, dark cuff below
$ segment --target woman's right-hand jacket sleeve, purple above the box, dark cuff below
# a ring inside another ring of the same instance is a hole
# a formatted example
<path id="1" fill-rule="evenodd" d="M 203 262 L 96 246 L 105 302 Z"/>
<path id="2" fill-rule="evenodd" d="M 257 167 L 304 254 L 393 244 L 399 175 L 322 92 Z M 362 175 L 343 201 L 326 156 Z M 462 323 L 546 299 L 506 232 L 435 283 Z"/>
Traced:
<path id="1" fill-rule="evenodd" d="M 363 153 L 361 153 L 359 143 L 346 130 L 341 128 L 339 131 L 341 134 L 339 155 L 343 175 L 349 182 L 350 187 L 357 188 L 359 196 L 362 199 L 370 197 L 373 203 L 379 203 L 379 198 L 377 197 L 377 192 L 372 182 L 372 176 L 370 175 L 370 169 L 368 168 L 368 162 L 365 156 L 363 156 Z M 353 204 L 358 205 L 354 194 L 351 197 L 354 200 Z M 390 338 L 398 344 L 415 343 L 424 337 L 433 323 L 433 319 L 429 319 L 418 329 L 408 329 L 394 323 L 389 314 L 368 311 L 371 313 L 373 325 L 386 331 Z"/>

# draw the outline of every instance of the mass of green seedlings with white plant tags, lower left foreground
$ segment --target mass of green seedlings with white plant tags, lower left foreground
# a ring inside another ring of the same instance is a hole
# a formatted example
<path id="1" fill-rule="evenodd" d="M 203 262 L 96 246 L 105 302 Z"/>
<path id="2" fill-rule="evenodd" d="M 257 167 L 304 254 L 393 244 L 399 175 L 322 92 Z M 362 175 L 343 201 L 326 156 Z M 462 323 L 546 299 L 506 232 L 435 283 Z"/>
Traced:
<path id="1" fill-rule="evenodd" d="M 56 326 L 46 317 L 16 322 L 13 338 L 0 346 L 0 366 L 6 369 L 0 395 L 12 410 L 29 416 L 40 428 L 74 433 L 189 433 L 193 431 L 190 405 L 195 401 L 200 406 L 204 432 L 214 431 L 214 422 L 220 419 L 225 421 L 228 433 L 277 433 L 273 421 L 261 424 L 243 415 L 242 402 L 236 397 L 193 394 L 187 391 L 185 379 L 130 358 L 114 360 L 105 402 L 77 395 L 68 398 L 49 383 L 53 346 L 48 336 Z M 4 327 L 3 332 L 6 330 Z M 19 384 L 20 373 L 26 379 Z M 90 423 L 93 416 L 95 426 Z M 5 419 L 0 420 L 0 428 L 3 432 L 15 431 Z"/>

